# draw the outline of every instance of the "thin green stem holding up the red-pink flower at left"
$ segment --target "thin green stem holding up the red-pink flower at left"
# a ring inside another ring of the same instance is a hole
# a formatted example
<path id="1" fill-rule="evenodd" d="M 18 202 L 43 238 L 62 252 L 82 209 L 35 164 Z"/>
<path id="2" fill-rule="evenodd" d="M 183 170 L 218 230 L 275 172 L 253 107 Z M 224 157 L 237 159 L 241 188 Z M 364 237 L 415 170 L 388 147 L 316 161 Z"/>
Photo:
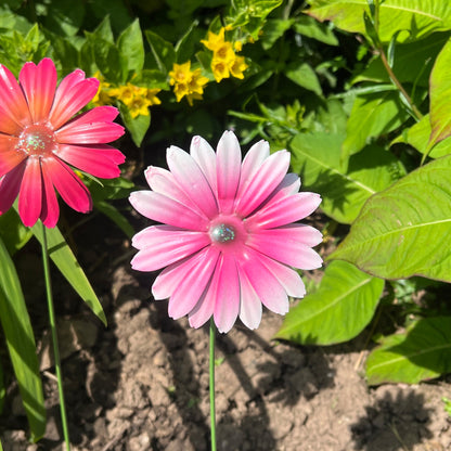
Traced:
<path id="1" fill-rule="evenodd" d="M 61 371 L 60 347 L 57 345 L 55 312 L 53 308 L 52 283 L 50 280 L 49 252 L 48 252 L 48 246 L 47 246 L 47 229 L 43 223 L 42 223 L 42 243 L 41 244 L 42 244 L 42 262 L 43 262 L 43 273 L 44 273 L 44 280 L 46 280 L 47 304 L 49 308 L 50 331 L 52 333 L 53 357 L 55 361 L 57 391 L 60 396 L 61 423 L 63 425 L 63 434 L 64 434 L 64 441 L 66 443 L 66 450 L 70 451 L 70 440 L 69 440 L 69 433 L 68 433 L 67 420 L 66 420 L 66 404 L 64 402 L 64 392 L 63 392 L 63 375 Z"/>

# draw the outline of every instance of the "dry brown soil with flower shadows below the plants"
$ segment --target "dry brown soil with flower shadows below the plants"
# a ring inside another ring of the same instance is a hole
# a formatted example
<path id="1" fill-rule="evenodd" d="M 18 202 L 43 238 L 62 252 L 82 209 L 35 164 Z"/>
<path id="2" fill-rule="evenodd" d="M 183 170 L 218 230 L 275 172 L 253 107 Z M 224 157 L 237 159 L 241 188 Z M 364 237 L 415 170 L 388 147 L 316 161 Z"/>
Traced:
<path id="1" fill-rule="evenodd" d="M 208 450 L 208 327 L 169 319 L 167 302 L 150 298 L 151 275 L 130 269 L 128 242 L 104 234 L 92 243 L 85 234 L 78 258 L 107 313 L 106 328 L 54 271 L 73 450 Z M 39 258 L 33 247 L 22 253 L 20 273 L 38 271 Z M 0 436 L 4 451 L 62 450 L 43 283 L 33 278 L 24 288 L 33 299 L 48 427 L 39 443 L 27 442 L 11 383 Z M 451 450 L 451 418 L 441 400 L 451 398 L 451 377 L 369 388 L 365 333 L 346 345 L 298 347 L 272 340 L 281 323 L 267 311 L 257 331 L 237 323 L 218 336 L 218 450 Z"/>

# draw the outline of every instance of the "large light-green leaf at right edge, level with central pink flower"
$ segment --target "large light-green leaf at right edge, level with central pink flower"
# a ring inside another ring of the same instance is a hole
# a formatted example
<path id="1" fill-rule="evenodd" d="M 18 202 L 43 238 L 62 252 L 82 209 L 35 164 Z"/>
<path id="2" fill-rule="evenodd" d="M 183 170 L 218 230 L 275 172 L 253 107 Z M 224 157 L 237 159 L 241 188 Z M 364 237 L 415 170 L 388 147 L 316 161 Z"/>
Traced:
<path id="1" fill-rule="evenodd" d="M 451 282 L 451 156 L 372 196 L 331 258 L 385 279 Z"/>

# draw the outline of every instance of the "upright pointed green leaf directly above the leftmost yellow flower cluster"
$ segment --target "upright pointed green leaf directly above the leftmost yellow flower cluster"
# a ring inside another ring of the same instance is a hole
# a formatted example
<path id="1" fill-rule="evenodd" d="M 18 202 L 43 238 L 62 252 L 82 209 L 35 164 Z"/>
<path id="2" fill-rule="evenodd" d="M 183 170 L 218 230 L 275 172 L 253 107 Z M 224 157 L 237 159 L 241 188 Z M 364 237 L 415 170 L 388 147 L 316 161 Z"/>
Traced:
<path id="1" fill-rule="evenodd" d="M 144 42 L 138 18 L 120 34 L 117 39 L 117 48 L 120 65 L 126 77 L 123 82 L 126 82 L 144 67 Z"/>

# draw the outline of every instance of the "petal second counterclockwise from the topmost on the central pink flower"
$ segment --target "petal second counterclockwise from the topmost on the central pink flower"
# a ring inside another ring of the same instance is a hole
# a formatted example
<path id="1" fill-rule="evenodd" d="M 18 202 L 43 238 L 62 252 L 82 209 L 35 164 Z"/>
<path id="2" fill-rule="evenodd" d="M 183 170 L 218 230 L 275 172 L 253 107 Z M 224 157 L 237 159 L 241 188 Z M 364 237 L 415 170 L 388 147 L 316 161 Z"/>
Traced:
<path id="1" fill-rule="evenodd" d="M 175 145 L 168 149 L 166 159 L 176 181 L 186 195 L 208 218 L 216 216 L 218 205 L 215 195 L 197 163 Z"/>

